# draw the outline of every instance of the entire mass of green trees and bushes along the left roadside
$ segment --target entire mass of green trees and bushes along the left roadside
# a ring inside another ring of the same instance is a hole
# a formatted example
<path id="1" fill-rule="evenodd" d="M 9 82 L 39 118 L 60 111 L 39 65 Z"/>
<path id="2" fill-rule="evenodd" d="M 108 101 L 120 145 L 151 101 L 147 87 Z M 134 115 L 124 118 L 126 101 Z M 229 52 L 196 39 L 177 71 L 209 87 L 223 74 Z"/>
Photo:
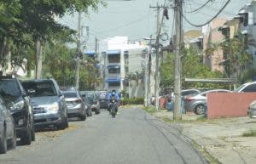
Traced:
<path id="1" fill-rule="evenodd" d="M 8 0 L 0 5 L 0 65 L 2 71 L 8 70 L 8 62 L 15 68 L 26 59 L 28 76 L 35 75 L 38 62 L 43 62 L 42 76 L 52 77 L 60 86 L 74 83 L 75 59 L 80 55 L 75 45 L 78 42 L 77 31 L 57 20 L 65 14 L 78 11 L 89 14 L 99 5 L 105 6 L 102 0 L 76 1 L 38 1 Z M 84 46 L 84 45 L 82 45 Z M 96 70 L 96 59 L 82 56 L 80 88 L 92 89 L 102 83 Z M 86 68 L 85 68 L 86 65 Z M 22 66 L 22 65 L 21 65 Z"/>

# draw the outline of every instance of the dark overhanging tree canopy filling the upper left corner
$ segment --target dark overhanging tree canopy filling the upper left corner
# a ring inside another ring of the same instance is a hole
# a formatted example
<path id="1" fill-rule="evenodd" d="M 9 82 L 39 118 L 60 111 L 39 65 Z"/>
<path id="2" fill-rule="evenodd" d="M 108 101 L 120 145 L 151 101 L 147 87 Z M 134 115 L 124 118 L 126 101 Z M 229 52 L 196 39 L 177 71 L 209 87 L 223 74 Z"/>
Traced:
<path id="1" fill-rule="evenodd" d="M 6 54 L 11 52 L 15 63 L 20 59 L 35 59 L 35 42 L 56 39 L 55 34 L 70 32 L 71 30 L 59 24 L 55 18 L 76 11 L 88 12 L 91 7 L 97 9 L 102 0 L 0 0 L 0 52 L 1 65 Z M 28 62 L 32 69 L 34 60 Z"/>

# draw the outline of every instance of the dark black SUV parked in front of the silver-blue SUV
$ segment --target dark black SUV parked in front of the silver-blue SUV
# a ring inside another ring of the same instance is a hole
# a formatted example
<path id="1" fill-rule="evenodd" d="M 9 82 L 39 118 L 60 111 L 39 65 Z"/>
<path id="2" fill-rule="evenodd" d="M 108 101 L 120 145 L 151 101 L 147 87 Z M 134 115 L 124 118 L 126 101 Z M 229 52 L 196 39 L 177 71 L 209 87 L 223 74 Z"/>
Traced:
<path id="1" fill-rule="evenodd" d="M 12 76 L 0 77 L 0 94 L 15 119 L 17 137 L 22 144 L 31 144 L 35 140 L 35 129 L 30 97 L 20 81 Z"/>

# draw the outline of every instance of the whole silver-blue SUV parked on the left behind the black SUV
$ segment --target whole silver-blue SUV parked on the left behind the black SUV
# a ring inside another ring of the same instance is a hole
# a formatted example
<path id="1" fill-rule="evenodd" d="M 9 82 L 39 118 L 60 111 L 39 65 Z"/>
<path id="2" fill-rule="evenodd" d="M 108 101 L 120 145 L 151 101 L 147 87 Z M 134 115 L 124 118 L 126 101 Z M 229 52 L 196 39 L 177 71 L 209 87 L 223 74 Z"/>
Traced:
<path id="1" fill-rule="evenodd" d="M 35 126 L 68 127 L 67 105 L 54 79 L 38 79 L 22 82 L 26 92 L 32 97 Z"/>

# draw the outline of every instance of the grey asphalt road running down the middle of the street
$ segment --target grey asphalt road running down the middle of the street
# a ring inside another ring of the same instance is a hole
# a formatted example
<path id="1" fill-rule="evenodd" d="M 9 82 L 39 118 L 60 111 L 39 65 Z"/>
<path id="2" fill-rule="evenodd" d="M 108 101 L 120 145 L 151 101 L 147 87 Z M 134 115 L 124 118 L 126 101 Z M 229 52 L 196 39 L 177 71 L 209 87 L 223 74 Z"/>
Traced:
<path id="1" fill-rule="evenodd" d="M 0 155 L 4 164 L 200 164 L 207 163 L 172 126 L 137 108 L 108 111 L 70 122 L 63 131 L 37 133 L 30 146 Z"/>

